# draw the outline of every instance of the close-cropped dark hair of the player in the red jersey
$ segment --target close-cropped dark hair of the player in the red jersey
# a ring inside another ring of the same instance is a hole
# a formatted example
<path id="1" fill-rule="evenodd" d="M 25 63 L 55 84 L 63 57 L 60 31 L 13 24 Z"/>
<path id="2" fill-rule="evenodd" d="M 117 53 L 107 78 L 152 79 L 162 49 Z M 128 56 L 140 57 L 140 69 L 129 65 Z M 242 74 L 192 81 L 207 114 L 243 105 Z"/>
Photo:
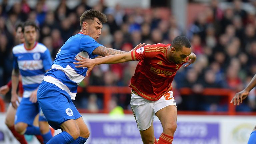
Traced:
<path id="1" fill-rule="evenodd" d="M 174 47 L 176 51 L 180 51 L 182 47 L 190 48 L 191 44 L 187 37 L 185 36 L 177 36 L 173 39 L 171 47 Z"/>

